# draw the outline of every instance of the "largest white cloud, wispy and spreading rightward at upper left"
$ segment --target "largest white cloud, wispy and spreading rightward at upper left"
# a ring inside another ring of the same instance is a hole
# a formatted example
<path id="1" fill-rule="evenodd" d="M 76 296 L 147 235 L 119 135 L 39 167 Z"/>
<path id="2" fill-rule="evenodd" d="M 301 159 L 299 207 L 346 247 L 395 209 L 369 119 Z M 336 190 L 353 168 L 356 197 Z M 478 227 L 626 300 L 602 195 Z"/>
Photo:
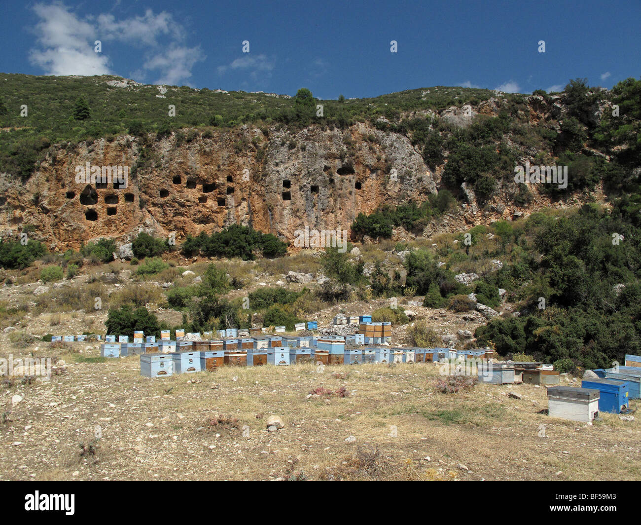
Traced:
<path id="1" fill-rule="evenodd" d="M 167 12 L 116 20 L 112 14 L 81 19 L 63 3 L 35 4 L 40 19 L 35 26 L 37 46 L 29 51 L 32 64 L 46 74 L 114 74 L 108 46 L 104 42 L 128 44 L 129 51 L 143 60 L 142 70 L 160 74 L 155 83 L 179 84 L 192 76 L 196 62 L 204 60 L 200 47 L 183 44 L 186 31 Z M 94 52 L 94 42 L 103 42 L 102 53 Z"/>

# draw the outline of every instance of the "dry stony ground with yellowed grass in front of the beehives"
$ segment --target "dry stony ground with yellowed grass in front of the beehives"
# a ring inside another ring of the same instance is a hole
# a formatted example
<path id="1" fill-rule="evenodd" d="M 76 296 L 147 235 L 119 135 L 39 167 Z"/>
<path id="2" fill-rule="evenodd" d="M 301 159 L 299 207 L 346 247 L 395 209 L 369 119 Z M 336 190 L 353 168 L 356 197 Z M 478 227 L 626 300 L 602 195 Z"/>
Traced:
<path id="1" fill-rule="evenodd" d="M 10 412 L 0 422 L 0 479 L 641 479 L 638 417 L 603 415 L 592 426 L 549 418 L 544 387 L 439 394 L 431 363 L 147 379 L 137 356 L 50 344 L 35 356 L 64 359 L 67 374 L 2 388 Z M 308 399 L 319 386 L 349 396 Z M 24 400 L 11 408 L 16 393 Z M 217 415 L 228 423 L 210 426 Z M 268 433 L 270 415 L 284 428 Z M 81 455 L 81 443 L 95 454 Z"/>

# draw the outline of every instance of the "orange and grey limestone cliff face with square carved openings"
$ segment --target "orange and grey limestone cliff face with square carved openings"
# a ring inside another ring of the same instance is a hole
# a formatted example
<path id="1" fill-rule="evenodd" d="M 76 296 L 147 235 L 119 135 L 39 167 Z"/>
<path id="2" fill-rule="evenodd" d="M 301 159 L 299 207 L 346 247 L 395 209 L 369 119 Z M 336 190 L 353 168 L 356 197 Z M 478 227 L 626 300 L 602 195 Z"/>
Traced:
<path id="1" fill-rule="evenodd" d="M 54 252 L 110 237 L 120 259 L 130 257 L 129 243 L 141 231 L 165 238 L 174 232 L 181 243 L 233 223 L 293 245 L 305 226 L 349 236 L 358 213 L 422 202 L 437 191 L 407 137 L 363 123 L 344 131 L 242 126 L 181 144 L 172 135 L 150 149 L 153 162 L 133 170 L 142 150 L 137 137 L 53 146 L 26 184 L 0 177 L 0 231 L 15 236 L 33 225 Z M 87 162 L 128 168 L 126 187 L 77 182 L 76 168 Z"/>

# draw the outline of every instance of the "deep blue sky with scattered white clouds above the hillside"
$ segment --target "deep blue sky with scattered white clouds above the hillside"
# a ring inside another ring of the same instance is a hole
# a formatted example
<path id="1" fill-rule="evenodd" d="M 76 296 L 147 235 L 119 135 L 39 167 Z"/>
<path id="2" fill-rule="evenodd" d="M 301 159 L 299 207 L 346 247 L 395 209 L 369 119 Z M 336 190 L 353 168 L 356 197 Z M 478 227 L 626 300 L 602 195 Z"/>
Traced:
<path id="1" fill-rule="evenodd" d="M 326 99 L 433 85 L 528 93 L 577 77 L 609 88 L 641 76 L 639 0 L 3 0 L 2 9 L 3 73 L 308 87 Z"/>

